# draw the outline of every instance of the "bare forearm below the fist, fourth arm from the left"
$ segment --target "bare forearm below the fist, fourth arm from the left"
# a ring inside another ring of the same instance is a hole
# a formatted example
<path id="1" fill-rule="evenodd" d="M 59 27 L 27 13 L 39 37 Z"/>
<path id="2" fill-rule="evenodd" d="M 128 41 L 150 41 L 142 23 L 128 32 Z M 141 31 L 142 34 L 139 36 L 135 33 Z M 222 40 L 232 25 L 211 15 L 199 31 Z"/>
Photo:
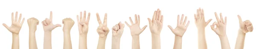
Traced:
<path id="1" fill-rule="evenodd" d="M 72 49 L 70 31 L 64 31 L 64 46 L 63 49 Z"/>

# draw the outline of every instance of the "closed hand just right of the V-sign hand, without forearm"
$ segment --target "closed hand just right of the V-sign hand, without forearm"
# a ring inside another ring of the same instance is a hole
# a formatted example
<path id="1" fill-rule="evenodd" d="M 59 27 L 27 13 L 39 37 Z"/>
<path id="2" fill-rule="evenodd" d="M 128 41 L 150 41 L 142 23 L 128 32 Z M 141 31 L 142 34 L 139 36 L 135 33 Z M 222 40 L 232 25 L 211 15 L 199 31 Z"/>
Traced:
<path id="1" fill-rule="evenodd" d="M 121 38 L 122 33 L 124 31 L 125 24 L 122 24 L 122 22 L 119 22 L 115 26 L 112 27 L 112 36 Z"/>

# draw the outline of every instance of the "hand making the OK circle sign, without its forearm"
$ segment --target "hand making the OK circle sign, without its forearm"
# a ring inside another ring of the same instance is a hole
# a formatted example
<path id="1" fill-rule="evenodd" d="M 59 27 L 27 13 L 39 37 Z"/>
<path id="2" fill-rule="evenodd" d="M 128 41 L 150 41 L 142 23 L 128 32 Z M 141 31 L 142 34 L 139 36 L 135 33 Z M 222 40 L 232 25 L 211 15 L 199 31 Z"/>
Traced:
<path id="1" fill-rule="evenodd" d="M 225 17 L 225 22 L 223 22 L 222 14 L 220 13 L 221 20 L 218 18 L 217 13 L 215 12 L 215 17 L 217 19 L 217 22 L 214 22 L 211 25 L 212 30 L 219 36 L 225 36 L 226 35 L 226 25 L 227 25 L 227 16 Z M 214 28 L 216 25 L 216 28 Z"/>

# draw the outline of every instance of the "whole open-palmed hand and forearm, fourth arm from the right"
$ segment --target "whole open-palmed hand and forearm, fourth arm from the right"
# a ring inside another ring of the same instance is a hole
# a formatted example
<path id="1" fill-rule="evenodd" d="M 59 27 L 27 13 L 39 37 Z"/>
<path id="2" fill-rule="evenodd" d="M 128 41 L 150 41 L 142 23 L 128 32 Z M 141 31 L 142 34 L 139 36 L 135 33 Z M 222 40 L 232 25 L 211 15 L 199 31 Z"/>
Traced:
<path id="1" fill-rule="evenodd" d="M 189 26 L 189 21 L 186 24 L 187 16 L 183 22 L 184 14 L 182 14 L 181 19 L 180 15 L 177 18 L 177 26 L 175 29 L 172 26 L 168 25 L 168 27 L 172 30 L 172 33 L 175 34 L 175 43 L 173 49 L 181 49 L 182 46 L 182 36 L 186 32 L 187 27 Z"/>

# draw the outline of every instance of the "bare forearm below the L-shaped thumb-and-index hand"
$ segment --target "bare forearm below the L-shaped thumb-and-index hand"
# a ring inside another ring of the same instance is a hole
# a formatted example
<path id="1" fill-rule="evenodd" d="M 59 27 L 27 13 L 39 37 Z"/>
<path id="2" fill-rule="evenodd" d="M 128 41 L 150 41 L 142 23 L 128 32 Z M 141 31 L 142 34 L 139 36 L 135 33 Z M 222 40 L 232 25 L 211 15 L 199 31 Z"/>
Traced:
<path id="1" fill-rule="evenodd" d="M 52 32 L 44 32 L 44 49 L 52 49 Z"/>

